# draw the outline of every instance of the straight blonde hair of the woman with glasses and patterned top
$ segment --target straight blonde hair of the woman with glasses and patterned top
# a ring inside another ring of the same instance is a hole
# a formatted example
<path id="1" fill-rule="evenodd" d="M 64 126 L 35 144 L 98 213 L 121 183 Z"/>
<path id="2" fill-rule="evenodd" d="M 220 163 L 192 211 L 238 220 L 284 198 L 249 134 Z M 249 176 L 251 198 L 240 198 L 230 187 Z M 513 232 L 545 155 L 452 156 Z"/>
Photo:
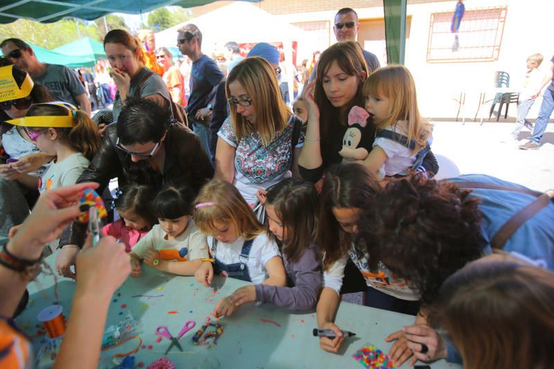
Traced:
<path id="1" fill-rule="evenodd" d="M 267 60 L 262 57 L 247 57 L 227 77 L 227 98 L 231 96 L 229 84 L 235 81 L 247 91 L 256 111 L 256 123 L 252 124 L 238 114 L 235 105 L 230 104 L 231 125 L 235 136 L 240 140 L 258 132 L 262 144 L 267 147 L 285 129 L 292 114 L 281 98 L 277 75 Z"/>

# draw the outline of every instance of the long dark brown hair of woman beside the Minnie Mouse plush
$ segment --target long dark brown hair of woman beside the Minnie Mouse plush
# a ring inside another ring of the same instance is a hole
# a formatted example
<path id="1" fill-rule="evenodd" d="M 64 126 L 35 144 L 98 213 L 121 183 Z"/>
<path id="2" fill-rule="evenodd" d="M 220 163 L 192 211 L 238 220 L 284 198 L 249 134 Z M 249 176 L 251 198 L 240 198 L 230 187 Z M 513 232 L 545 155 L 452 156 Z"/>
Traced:
<path id="1" fill-rule="evenodd" d="M 348 75 L 355 75 L 359 79 L 358 89 L 355 98 L 350 102 L 348 107 L 345 107 L 345 113 L 341 115 L 341 108 L 333 107 L 323 89 L 323 76 L 329 70 L 332 62 L 337 62 L 339 68 Z M 364 79 L 369 74 L 364 53 L 361 46 L 357 42 L 337 42 L 327 48 L 321 54 L 321 58 L 317 64 L 316 84 L 314 86 L 314 100 L 319 107 L 319 129 L 321 134 L 321 154 L 325 155 L 332 141 L 337 140 L 337 135 L 341 126 L 346 127 L 348 111 L 354 105 L 364 106 L 364 96 L 362 96 L 361 88 L 364 84 Z M 327 160 L 323 159 L 323 165 L 327 166 Z"/>

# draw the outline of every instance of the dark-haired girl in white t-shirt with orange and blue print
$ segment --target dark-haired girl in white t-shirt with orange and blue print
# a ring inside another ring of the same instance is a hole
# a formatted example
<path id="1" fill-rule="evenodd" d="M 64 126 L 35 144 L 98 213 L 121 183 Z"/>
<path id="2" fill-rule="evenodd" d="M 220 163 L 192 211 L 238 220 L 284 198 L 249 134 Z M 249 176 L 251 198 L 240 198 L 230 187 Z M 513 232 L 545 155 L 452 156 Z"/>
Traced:
<path id="1" fill-rule="evenodd" d="M 166 186 L 158 193 L 152 208 L 159 224 L 130 253 L 132 276 L 141 275 L 141 260 L 154 269 L 192 276 L 208 258 L 206 236 L 191 217 L 194 196 L 188 186 Z"/>

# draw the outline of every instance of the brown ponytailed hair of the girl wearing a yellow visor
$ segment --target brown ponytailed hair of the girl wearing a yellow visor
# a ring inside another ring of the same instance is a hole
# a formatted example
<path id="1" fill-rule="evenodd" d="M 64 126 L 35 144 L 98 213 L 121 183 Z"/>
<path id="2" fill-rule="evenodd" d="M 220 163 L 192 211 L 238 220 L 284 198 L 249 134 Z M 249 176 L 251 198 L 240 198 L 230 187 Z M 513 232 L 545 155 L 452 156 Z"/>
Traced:
<path id="1" fill-rule="evenodd" d="M 71 128 L 55 128 L 60 140 L 82 153 L 87 159 L 92 160 L 100 148 L 100 132 L 98 132 L 98 127 L 91 120 L 89 114 L 82 110 L 73 110 L 60 105 L 37 104 L 30 106 L 26 116 L 65 116 L 68 110 L 73 113 L 74 126 Z M 37 128 L 28 127 L 27 129 L 37 131 Z"/>

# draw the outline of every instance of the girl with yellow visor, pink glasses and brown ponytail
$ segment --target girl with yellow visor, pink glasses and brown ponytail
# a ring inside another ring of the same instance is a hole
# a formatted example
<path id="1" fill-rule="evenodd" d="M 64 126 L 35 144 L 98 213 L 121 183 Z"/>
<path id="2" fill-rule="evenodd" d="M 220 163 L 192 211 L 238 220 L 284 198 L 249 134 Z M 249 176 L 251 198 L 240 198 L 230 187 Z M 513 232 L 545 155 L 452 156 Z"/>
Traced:
<path id="1" fill-rule="evenodd" d="M 40 151 L 56 156 L 38 181 L 40 192 L 75 184 L 100 146 L 100 134 L 88 114 L 62 102 L 31 105 L 24 118 L 8 120 L 24 127 Z"/>

